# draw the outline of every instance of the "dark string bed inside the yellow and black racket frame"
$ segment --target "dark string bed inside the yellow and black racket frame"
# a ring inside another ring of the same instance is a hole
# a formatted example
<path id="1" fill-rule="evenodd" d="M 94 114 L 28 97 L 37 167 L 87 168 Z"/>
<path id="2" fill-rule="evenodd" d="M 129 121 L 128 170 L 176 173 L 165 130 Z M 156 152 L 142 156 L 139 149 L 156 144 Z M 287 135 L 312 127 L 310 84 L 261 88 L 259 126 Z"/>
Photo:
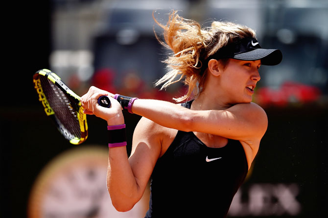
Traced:
<path id="1" fill-rule="evenodd" d="M 50 107 L 55 112 L 58 129 L 67 139 L 81 138 L 77 106 L 66 94 L 45 77 L 40 77 L 41 86 Z"/>

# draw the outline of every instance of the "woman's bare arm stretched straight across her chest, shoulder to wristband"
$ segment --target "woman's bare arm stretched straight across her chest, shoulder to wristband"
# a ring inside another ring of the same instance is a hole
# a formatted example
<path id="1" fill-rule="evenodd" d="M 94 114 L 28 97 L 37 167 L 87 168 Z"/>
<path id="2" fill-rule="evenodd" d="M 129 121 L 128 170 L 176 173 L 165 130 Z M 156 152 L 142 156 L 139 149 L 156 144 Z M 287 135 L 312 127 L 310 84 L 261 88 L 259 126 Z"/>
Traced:
<path id="1" fill-rule="evenodd" d="M 191 110 L 170 102 L 138 99 L 132 111 L 164 127 L 242 141 L 261 138 L 267 129 L 266 113 L 255 103 L 236 104 L 225 110 Z"/>

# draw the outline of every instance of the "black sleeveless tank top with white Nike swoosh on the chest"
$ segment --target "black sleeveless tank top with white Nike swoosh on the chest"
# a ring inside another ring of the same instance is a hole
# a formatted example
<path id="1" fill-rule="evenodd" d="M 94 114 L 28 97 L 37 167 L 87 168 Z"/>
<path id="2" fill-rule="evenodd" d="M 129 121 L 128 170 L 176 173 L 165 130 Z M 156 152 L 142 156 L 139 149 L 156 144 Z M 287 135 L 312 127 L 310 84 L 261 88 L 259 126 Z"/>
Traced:
<path id="1" fill-rule="evenodd" d="M 239 141 L 209 148 L 193 132 L 178 131 L 153 170 L 145 218 L 225 218 L 247 171 Z"/>

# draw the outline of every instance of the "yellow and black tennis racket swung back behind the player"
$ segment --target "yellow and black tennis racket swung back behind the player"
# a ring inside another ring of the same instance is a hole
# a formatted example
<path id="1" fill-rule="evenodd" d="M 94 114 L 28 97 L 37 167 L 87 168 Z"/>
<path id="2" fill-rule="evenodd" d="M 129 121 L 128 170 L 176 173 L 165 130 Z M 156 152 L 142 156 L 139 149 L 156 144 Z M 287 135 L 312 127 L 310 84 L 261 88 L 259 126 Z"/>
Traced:
<path id="1" fill-rule="evenodd" d="M 38 70 L 33 75 L 34 88 L 48 117 L 71 144 L 78 145 L 88 138 L 87 115 L 83 113 L 80 96 L 75 94 L 54 72 Z M 111 102 L 105 95 L 98 104 L 109 108 Z"/>

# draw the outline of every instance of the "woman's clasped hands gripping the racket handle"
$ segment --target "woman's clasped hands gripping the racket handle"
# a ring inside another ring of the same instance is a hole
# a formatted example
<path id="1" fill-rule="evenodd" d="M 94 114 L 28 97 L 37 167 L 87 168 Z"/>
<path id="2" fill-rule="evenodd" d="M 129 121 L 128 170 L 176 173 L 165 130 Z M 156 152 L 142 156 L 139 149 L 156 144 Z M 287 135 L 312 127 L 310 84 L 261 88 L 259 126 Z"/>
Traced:
<path id="1" fill-rule="evenodd" d="M 107 95 L 111 101 L 110 108 L 101 107 L 98 104 L 98 98 L 102 95 Z M 121 105 L 113 98 L 114 94 L 99 89 L 97 87 L 90 87 L 89 91 L 81 98 L 81 105 L 84 108 L 85 114 L 94 114 L 107 121 L 109 126 L 120 125 L 124 123 Z"/>

